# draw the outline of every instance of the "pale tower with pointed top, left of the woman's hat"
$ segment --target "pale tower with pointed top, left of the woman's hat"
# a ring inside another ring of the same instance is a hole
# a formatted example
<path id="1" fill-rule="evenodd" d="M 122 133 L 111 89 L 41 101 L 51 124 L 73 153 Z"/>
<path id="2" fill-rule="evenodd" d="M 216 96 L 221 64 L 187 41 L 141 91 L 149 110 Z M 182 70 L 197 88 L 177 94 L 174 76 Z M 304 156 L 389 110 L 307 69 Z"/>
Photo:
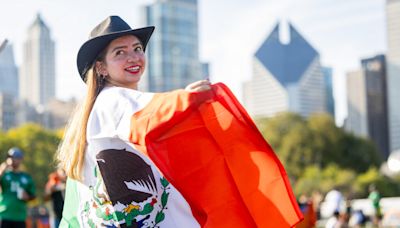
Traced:
<path id="1" fill-rule="evenodd" d="M 20 73 L 21 98 L 31 105 L 45 105 L 55 97 L 55 53 L 50 29 L 40 14 L 28 29 Z"/>

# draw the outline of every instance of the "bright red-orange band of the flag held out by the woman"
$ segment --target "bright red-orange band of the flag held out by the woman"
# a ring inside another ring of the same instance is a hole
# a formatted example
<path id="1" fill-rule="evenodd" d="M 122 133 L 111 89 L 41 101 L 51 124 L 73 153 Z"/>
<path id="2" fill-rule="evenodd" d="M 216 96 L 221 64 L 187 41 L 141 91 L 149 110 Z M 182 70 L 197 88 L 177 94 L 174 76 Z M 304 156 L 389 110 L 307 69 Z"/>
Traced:
<path id="1" fill-rule="evenodd" d="M 131 142 L 202 227 L 292 227 L 302 219 L 283 166 L 225 85 L 157 94 L 131 124 Z"/>

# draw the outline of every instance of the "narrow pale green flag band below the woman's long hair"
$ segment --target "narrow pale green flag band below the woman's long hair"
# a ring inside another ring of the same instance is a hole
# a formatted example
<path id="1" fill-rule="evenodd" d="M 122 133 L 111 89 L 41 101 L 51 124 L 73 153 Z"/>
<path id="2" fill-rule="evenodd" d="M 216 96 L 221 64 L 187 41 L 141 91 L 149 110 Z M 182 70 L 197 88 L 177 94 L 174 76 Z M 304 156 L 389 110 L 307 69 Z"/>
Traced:
<path id="1" fill-rule="evenodd" d="M 63 218 L 60 227 L 79 227 L 79 221 L 76 217 L 79 206 L 79 195 L 77 192 L 76 181 L 67 180 L 67 187 L 65 190 Z"/>

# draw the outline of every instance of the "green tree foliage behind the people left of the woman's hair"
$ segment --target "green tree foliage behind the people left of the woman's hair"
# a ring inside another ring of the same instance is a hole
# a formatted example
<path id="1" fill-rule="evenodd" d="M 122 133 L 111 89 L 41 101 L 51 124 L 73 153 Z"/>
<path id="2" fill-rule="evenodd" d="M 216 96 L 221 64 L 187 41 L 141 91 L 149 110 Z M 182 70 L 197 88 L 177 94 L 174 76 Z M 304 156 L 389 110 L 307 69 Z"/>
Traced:
<path id="1" fill-rule="evenodd" d="M 37 195 L 43 195 L 48 174 L 54 171 L 54 154 L 60 142 L 56 132 L 37 124 L 26 124 L 0 133 L 0 155 L 4 160 L 7 150 L 13 146 L 24 151 L 23 168 L 36 185 Z M 2 161 L 3 161 L 2 160 Z"/>

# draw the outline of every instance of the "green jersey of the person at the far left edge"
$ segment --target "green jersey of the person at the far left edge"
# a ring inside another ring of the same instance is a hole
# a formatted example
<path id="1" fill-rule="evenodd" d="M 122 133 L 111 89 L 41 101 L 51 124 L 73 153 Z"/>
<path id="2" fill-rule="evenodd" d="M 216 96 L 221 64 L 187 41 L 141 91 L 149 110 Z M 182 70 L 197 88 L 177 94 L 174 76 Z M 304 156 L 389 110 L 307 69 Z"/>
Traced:
<path id="1" fill-rule="evenodd" d="M 27 202 L 18 198 L 18 189 L 30 196 L 35 195 L 32 177 L 24 172 L 6 171 L 0 180 L 0 218 L 12 221 L 25 221 Z"/>

